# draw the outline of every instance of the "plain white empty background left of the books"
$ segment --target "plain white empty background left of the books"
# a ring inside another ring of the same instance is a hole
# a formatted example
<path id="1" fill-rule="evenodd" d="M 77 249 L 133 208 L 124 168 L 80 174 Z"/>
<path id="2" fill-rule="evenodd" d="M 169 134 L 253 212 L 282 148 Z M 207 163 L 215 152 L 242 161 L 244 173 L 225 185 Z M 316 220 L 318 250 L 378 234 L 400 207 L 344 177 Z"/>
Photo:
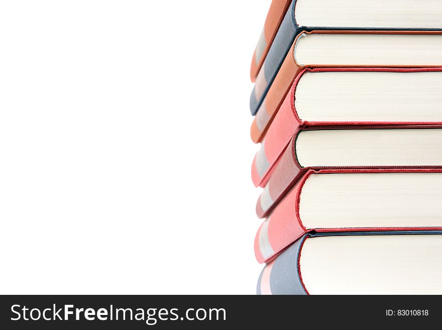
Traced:
<path id="1" fill-rule="evenodd" d="M 269 6 L 0 3 L 0 293 L 255 293 Z"/>

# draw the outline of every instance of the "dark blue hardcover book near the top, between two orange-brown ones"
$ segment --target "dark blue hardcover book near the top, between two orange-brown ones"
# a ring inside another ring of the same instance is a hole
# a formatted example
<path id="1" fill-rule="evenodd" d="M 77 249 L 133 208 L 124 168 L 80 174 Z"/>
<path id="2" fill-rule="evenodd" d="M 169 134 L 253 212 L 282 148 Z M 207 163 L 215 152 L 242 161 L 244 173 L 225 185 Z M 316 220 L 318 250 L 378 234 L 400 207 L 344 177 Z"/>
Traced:
<path id="1" fill-rule="evenodd" d="M 273 83 L 290 45 L 302 31 L 313 30 L 421 30 L 442 28 L 442 6 L 436 0 L 293 0 L 256 78 L 250 97 L 255 115 Z"/>

